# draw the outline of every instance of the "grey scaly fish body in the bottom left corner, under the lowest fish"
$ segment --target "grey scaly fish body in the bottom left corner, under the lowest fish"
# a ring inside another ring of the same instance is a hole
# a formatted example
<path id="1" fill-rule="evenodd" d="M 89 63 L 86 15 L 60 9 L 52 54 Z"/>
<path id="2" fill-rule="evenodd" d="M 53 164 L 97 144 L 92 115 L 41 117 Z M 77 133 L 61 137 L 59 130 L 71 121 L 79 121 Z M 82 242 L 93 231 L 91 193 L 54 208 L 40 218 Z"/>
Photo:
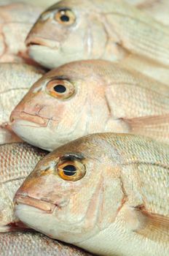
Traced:
<path id="1" fill-rule="evenodd" d="M 4 256 L 92 256 L 75 246 L 31 232 L 0 233 L 0 251 Z"/>

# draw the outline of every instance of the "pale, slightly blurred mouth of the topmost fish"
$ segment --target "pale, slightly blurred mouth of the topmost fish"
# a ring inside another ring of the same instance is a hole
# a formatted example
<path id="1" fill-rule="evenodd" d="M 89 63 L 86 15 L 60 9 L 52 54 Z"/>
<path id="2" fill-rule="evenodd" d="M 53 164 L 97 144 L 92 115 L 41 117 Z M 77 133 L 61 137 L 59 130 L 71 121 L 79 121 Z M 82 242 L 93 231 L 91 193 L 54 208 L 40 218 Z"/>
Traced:
<path id="1" fill-rule="evenodd" d="M 36 37 L 36 36 L 28 36 L 27 39 L 25 39 L 25 45 L 27 47 L 31 46 L 45 46 L 47 48 L 53 48 L 58 49 L 60 46 L 60 43 L 57 41 L 53 41 L 51 39 L 42 38 L 42 37 Z"/>

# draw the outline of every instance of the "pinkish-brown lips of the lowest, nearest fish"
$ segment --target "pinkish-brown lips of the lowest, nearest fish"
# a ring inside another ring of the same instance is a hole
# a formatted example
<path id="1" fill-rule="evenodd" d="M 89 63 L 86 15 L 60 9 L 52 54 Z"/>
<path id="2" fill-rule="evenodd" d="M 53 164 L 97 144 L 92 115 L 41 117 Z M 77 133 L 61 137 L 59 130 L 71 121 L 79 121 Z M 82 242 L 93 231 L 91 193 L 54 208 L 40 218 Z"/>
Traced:
<path id="1" fill-rule="evenodd" d="M 46 214 L 52 214 L 55 208 L 58 207 L 58 205 L 55 203 L 50 203 L 45 200 L 40 200 L 23 194 L 15 195 L 14 206 L 16 207 L 19 204 L 38 208 L 39 210 L 43 211 Z"/>

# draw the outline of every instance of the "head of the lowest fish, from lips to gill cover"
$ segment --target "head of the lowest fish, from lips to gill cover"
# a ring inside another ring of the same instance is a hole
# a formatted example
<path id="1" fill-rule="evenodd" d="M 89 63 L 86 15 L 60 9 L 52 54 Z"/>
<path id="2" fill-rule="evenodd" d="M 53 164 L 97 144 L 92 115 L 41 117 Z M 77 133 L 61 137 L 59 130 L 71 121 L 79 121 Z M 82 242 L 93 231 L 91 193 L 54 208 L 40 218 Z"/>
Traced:
<path id="1" fill-rule="evenodd" d="M 40 161 L 15 195 L 15 214 L 26 225 L 71 244 L 114 222 L 122 205 L 117 151 L 88 135 Z"/>

